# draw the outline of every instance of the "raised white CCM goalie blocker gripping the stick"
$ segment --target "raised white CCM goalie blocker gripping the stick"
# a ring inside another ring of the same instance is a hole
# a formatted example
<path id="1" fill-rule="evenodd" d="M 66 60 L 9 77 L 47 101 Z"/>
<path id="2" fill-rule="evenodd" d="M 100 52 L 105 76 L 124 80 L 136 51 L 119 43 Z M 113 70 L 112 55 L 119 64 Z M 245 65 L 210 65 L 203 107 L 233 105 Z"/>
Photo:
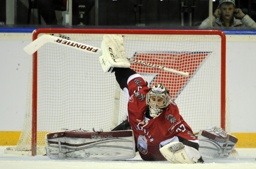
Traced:
<path id="1" fill-rule="evenodd" d="M 121 35 L 103 35 L 101 42 L 102 56 L 99 57 L 103 71 L 112 72 L 113 67 L 130 67 L 124 50 L 124 40 Z"/>

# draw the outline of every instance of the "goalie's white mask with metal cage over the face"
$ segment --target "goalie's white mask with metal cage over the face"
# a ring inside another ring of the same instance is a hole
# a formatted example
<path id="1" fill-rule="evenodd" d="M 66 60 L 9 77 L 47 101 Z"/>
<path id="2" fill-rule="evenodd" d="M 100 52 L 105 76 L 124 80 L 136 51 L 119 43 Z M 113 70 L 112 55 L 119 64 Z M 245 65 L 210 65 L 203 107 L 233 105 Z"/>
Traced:
<path id="1" fill-rule="evenodd" d="M 146 102 L 151 117 L 159 116 L 162 111 L 169 108 L 172 97 L 168 89 L 161 83 L 153 86 L 147 93 Z"/>

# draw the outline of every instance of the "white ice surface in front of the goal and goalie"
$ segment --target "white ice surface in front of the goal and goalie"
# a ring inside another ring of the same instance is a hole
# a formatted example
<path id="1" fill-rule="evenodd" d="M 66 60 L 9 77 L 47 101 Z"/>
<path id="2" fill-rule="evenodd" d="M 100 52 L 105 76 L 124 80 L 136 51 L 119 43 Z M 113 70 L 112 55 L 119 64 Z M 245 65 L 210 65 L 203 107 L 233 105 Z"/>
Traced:
<path id="1" fill-rule="evenodd" d="M 6 155 L 5 149 L 5 146 L 0 146 L 0 169 L 256 169 L 256 148 L 237 148 L 236 157 L 204 159 L 203 164 L 143 161 L 139 155 L 120 161 L 52 160 L 47 156 Z"/>

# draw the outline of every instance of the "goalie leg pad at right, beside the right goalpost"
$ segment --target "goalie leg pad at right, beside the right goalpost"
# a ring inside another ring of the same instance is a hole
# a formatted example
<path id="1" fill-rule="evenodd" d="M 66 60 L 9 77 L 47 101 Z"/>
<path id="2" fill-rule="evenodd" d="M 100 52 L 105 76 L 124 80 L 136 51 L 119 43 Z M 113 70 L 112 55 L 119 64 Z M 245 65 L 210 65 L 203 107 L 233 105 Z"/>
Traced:
<path id="1" fill-rule="evenodd" d="M 212 127 L 198 133 L 199 152 L 203 158 L 228 157 L 235 148 L 238 139 L 222 128 Z"/>

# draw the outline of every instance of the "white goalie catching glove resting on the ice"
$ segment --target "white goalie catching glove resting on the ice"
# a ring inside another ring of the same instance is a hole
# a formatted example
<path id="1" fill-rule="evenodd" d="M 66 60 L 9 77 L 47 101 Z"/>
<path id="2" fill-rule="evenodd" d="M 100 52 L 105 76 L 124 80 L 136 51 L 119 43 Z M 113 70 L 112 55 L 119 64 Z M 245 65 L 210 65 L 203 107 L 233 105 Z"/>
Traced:
<path id="1" fill-rule="evenodd" d="M 193 164 L 199 161 L 201 154 L 193 147 L 182 142 L 171 142 L 160 148 L 162 155 L 171 163 Z"/>

